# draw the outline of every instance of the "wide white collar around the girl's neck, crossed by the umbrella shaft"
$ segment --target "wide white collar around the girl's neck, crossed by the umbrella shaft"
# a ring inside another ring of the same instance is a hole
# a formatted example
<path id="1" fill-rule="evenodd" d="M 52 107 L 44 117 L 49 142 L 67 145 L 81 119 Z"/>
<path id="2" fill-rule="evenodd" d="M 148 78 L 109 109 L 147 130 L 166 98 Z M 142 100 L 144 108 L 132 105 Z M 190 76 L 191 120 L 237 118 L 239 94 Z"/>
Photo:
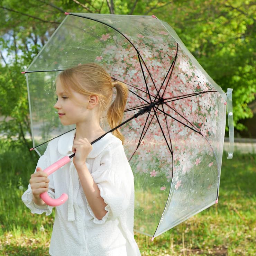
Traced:
<path id="1" fill-rule="evenodd" d="M 63 134 L 57 144 L 57 150 L 61 155 L 71 155 L 72 147 L 74 143 L 75 131 L 67 132 Z M 97 157 L 109 144 L 111 141 L 111 137 L 115 137 L 111 134 L 111 132 L 107 133 L 103 138 L 98 140 L 92 145 L 92 151 L 89 153 L 87 158 L 95 158 Z M 116 138 L 116 137 L 115 137 Z"/>

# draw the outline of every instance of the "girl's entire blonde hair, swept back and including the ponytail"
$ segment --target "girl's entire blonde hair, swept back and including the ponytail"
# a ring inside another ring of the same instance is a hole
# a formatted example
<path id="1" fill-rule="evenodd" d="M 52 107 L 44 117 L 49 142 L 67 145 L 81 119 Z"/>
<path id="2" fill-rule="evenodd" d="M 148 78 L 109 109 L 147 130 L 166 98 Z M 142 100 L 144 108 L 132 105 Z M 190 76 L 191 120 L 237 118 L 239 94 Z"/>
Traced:
<path id="1" fill-rule="evenodd" d="M 73 90 L 84 95 L 97 95 L 100 115 L 107 110 L 107 120 L 111 129 L 121 124 L 128 88 L 122 82 L 112 81 L 103 67 L 95 63 L 81 64 L 62 71 L 57 79 L 60 79 L 62 86 L 68 92 Z M 116 98 L 111 104 L 113 87 L 117 92 Z M 119 129 L 113 131 L 112 134 L 124 143 L 124 136 Z"/>

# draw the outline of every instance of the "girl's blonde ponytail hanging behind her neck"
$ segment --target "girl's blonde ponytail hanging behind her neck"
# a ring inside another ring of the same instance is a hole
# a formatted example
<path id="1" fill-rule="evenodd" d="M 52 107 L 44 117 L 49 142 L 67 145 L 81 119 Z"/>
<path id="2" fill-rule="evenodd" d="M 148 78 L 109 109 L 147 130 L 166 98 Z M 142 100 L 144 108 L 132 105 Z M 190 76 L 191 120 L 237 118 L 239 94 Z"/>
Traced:
<path id="1" fill-rule="evenodd" d="M 127 86 L 120 81 L 113 81 L 112 86 L 116 87 L 117 94 L 116 99 L 113 101 L 107 112 L 108 123 L 111 128 L 115 128 L 120 125 L 124 116 L 125 105 L 128 97 Z M 119 138 L 124 144 L 125 137 L 121 134 L 119 129 L 112 132 L 117 138 Z"/>

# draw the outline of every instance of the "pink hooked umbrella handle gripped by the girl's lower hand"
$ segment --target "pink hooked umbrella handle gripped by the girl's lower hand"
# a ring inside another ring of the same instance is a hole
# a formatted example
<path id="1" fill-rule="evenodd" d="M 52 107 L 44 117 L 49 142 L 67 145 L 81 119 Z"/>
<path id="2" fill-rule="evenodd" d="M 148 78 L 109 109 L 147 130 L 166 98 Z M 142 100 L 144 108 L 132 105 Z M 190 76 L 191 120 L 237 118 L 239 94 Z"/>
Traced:
<path id="1" fill-rule="evenodd" d="M 70 158 L 68 156 L 64 156 L 56 163 L 47 167 L 44 170 L 44 172 L 46 172 L 47 176 L 49 176 L 50 174 L 52 174 L 53 172 L 58 170 L 58 168 L 61 168 L 63 165 L 67 164 L 68 162 L 70 162 Z M 44 193 L 40 194 L 40 198 L 42 198 L 42 200 L 50 206 L 59 206 L 67 201 L 68 195 L 62 194 L 59 198 L 53 199 L 47 194 L 47 192 L 44 192 Z"/>

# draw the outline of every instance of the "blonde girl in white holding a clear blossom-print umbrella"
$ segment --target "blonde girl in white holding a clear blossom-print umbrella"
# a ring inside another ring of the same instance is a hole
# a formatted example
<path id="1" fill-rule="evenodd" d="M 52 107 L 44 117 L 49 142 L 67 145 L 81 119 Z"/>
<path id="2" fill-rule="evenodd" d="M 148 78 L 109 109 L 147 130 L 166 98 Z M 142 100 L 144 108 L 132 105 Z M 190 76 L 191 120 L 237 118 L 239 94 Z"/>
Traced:
<path id="1" fill-rule="evenodd" d="M 116 98 L 112 100 L 113 87 Z M 57 109 L 63 125 L 76 130 L 52 140 L 29 180 L 22 201 L 32 213 L 51 214 L 40 198 L 67 193 L 68 201 L 56 208 L 50 255 L 140 255 L 134 240 L 134 181 L 124 153 L 124 137 L 116 130 L 90 144 L 105 132 L 100 118 L 107 110 L 111 128 L 120 124 L 128 89 L 111 81 L 97 64 L 83 64 L 60 73 L 56 79 Z M 75 153 L 61 170 L 42 171 L 65 155 Z"/>

